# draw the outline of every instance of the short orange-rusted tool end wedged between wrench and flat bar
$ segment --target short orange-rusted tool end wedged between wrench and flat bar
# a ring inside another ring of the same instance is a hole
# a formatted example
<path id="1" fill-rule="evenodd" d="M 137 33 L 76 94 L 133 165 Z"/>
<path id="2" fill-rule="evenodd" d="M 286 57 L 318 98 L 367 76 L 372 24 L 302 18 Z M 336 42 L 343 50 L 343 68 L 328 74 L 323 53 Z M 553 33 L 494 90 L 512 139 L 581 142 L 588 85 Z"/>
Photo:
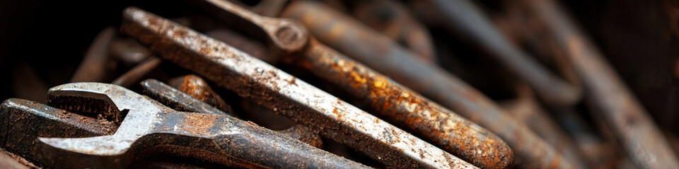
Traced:
<path id="1" fill-rule="evenodd" d="M 176 77 L 170 80 L 170 85 L 175 87 L 175 89 L 179 89 L 185 94 L 189 94 L 189 96 L 192 96 L 199 101 L 219 108 L 221 111 L 224 111 L 231 116 L 235 115 L 231 109 L 231 106 L 226 104 L 224 99 L 221 99 L 221 96 L 216 94 L 209 84 L 207 84 L 205 80 L 198 77 L 197 75 Z"/>

